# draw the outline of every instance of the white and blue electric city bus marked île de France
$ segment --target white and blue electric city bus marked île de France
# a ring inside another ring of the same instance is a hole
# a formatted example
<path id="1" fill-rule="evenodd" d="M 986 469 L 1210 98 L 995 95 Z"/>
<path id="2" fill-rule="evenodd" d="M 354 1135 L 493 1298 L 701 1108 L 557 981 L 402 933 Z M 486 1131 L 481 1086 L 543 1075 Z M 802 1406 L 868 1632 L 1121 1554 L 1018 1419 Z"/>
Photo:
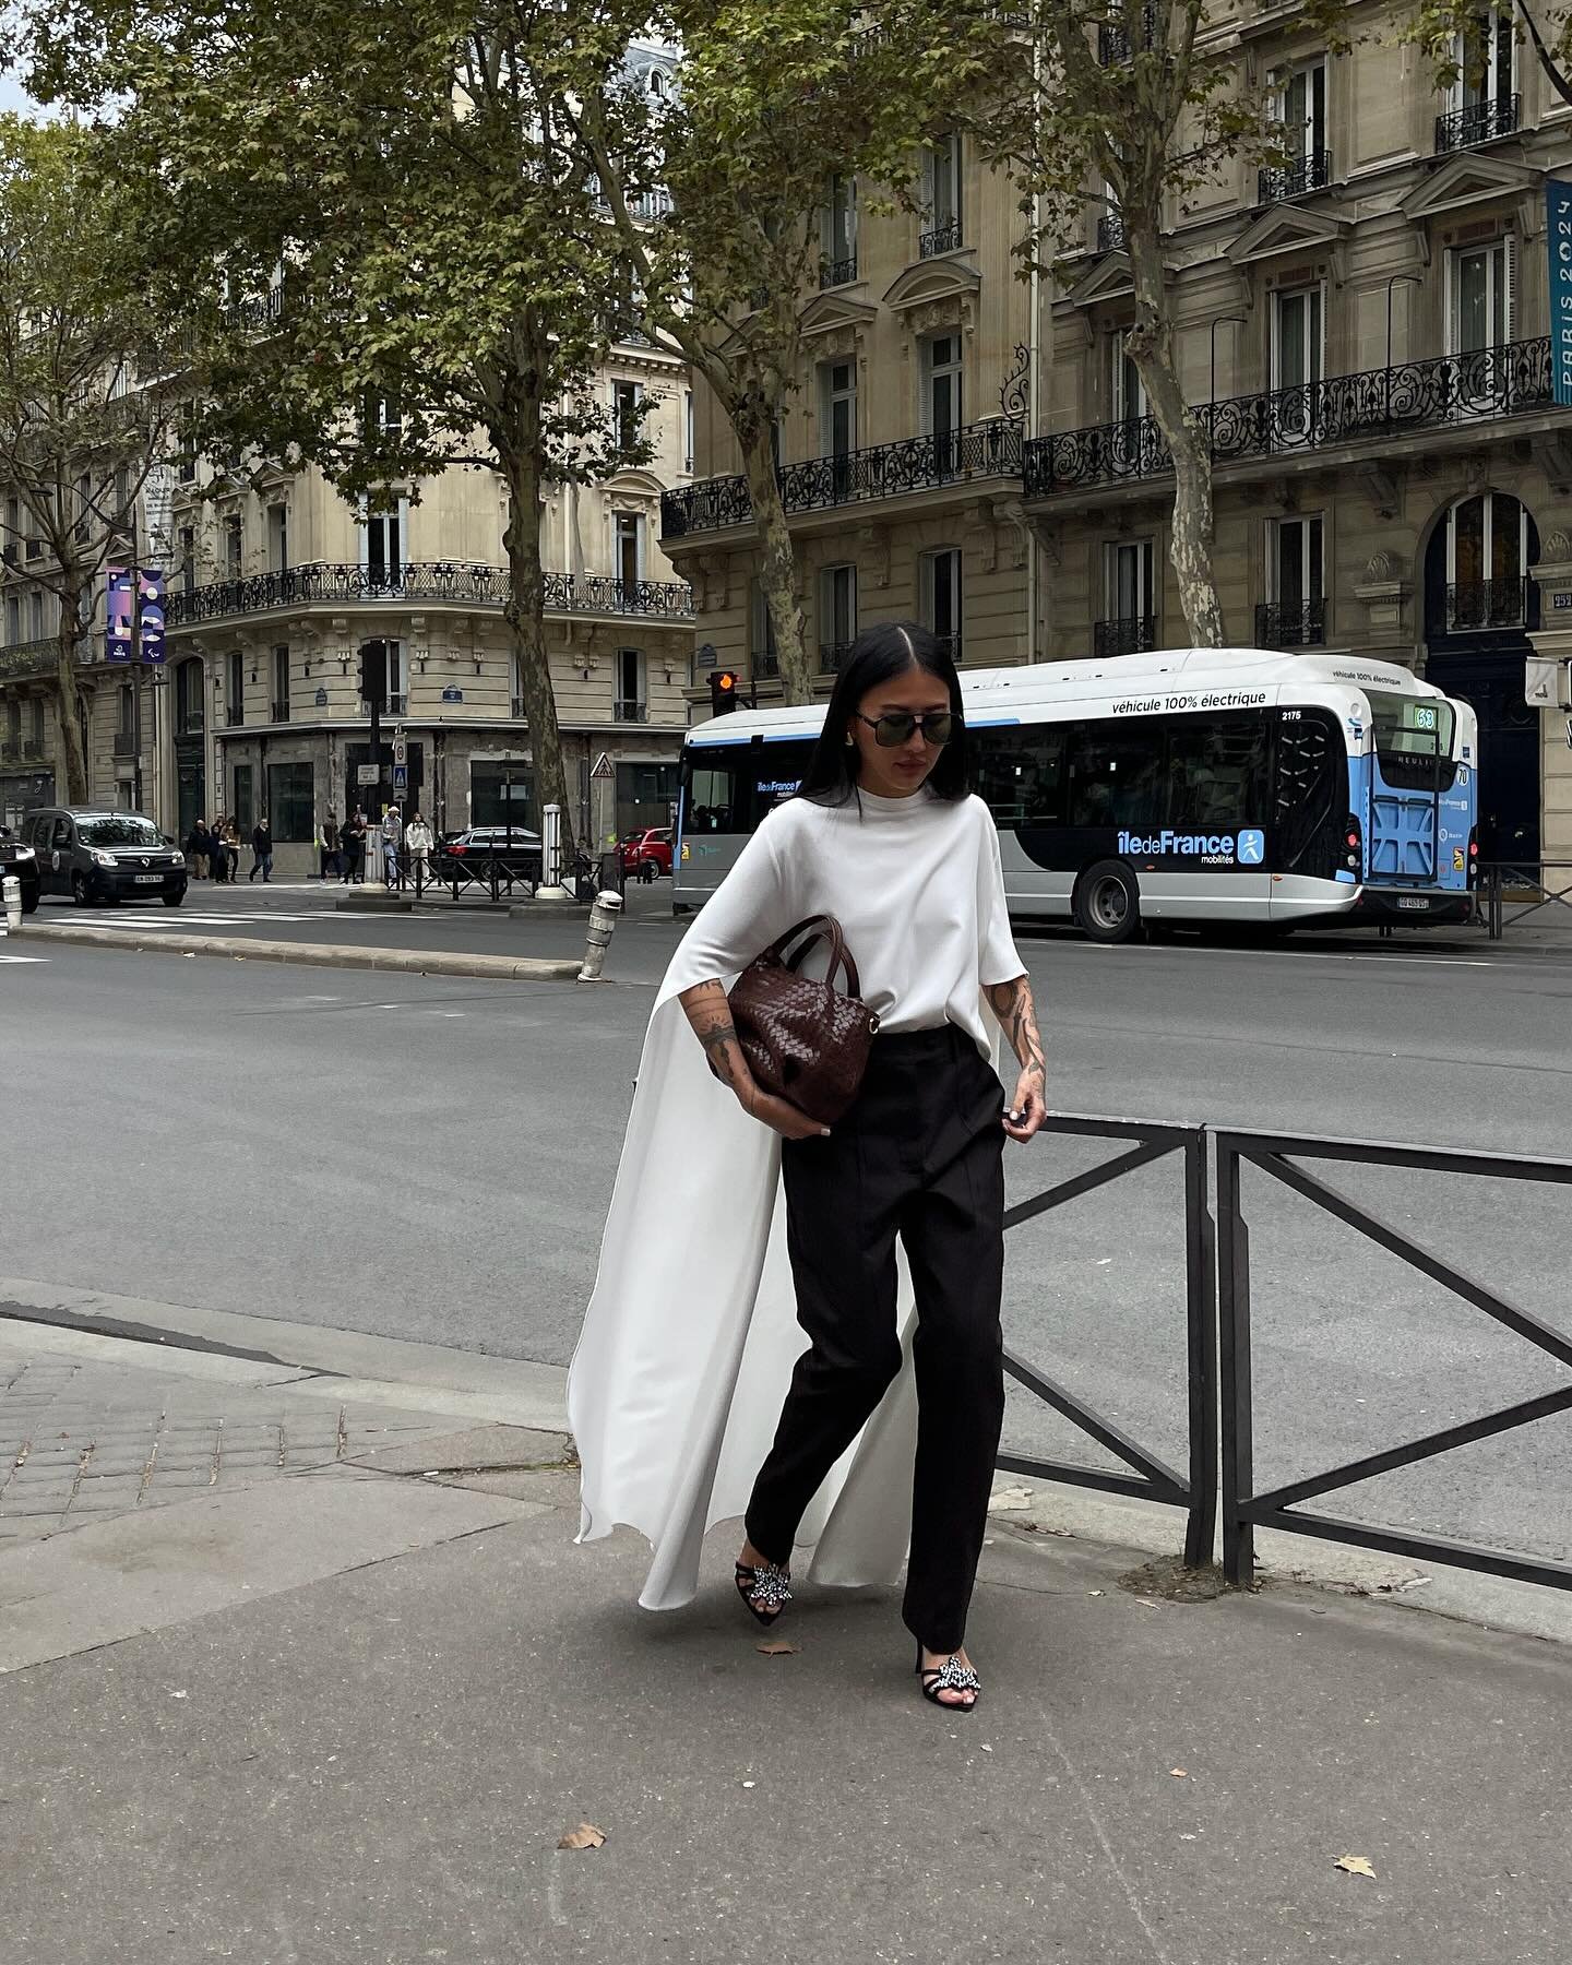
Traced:
<path id="1" fill-rule="evenodd" d="M 1010 912 L 1095 941 L 1144 922 L 1458 922 L 1474 711 L 1358 654 L 1179 648 L 961 676 Z M 737 709 L 682 753 L 674 906 L 698 908 L 792 798 L 823 703 Z"/>

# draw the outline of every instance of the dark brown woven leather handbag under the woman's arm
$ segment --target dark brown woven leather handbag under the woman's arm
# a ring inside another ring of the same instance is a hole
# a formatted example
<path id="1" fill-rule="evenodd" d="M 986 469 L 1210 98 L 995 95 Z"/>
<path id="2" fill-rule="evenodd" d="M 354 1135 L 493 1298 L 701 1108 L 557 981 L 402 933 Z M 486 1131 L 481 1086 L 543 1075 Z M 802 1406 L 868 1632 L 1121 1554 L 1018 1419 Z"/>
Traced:
<path id="1" fill-rule="evenodd" d="M 800 973 L 802 959 L 819 941 L 829 943 L 823 982 Z M 835 988 L 841 971 L 845 994 Z M 829 914 L 788 927 L 749 963 L 731 990 L 731 1022 L 749 1071 L 766 1093 L 821 1126 L 833 1126 L 857 1096 L 878 1032 L 878 1018 L 859 990 L 857 963 L 841 924 Z"/>

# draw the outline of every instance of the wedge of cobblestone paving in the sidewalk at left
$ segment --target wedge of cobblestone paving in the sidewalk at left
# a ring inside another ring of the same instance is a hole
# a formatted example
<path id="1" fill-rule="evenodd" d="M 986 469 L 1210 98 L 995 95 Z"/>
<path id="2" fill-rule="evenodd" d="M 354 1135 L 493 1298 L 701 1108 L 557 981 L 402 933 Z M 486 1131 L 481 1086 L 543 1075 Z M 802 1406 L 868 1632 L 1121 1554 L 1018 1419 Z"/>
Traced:
<path id="1" fill-rule="evenodd" d="M 206 1383 L 65 1356 L 22 1360 L 0 1342 L 0 1546 L 452 1429 L 338 1403 L 324 1397 L 328 1383 L 307 1372 Z"/>

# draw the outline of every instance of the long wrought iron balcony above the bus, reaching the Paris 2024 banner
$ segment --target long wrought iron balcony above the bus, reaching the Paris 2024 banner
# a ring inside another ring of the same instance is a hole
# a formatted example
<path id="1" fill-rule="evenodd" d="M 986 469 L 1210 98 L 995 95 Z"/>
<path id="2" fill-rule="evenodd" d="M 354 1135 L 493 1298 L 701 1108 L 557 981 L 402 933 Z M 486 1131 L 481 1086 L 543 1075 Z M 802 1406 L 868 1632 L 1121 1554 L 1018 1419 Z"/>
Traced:
<path id="1" fill-rule="evenodd" d="M 1212 464 L 1291 456 L 1332 444 L 1391 440 L 1493 417 L 1550 407 L 1550 342 L 1509 342 L 1462 356 L 1399 362 L 1358 375 L 1326 375 L 1297 389 L 1201 403 Z M 1173 458 L 1153 417 L 1061 430 L 1026 444 L 1028 497 L 1055 497 L 1083 485 L 1163 477 Z"/>

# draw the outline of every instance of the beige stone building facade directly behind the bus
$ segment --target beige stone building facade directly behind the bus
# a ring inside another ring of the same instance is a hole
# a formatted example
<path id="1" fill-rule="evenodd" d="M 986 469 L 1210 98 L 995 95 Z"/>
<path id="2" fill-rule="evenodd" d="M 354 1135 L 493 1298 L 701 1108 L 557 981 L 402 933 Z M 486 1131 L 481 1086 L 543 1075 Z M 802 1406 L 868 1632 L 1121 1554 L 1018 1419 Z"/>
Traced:
<path id="1" fill-rule="evenodd" d="M 1169 214 L 1224 633 L 1364 650 L 1466 696 L 1482 851 L 1566 859 L 1572 411 L 1550 391 L 1544 185 L 1572 175 L 1572 112 L 1509 31 L 1478 84 L 1438 94 L 1395 26 L 1364 10 L 1368 37 L 1340 57 L 1293 6 L 1240 4 L 1212 29 L 1271 88 L 1293 151 L 1236 161 Z M 880 615 L 926 619 L 979 664 L 1183 643 L 1173 474 L 1124 350 L 1118 214 L 1089 187 L 1079 253 L 1032 289 L 1008 181 L 957 145 L 935 159 L 926 222 L 857 224 L 855 198 L 825 200 L 815 360 L 782 442 L 810 637 L 825 666 Z M 700 637 L 747 662 L 768 656 L 747 499 L 739 513 L 735 479 L 707 481 L 735 454 L 703 401 L 698 430 L 703 481 L 666 499 L 668 552 Z M 1544 707 L 1527 700 L 1533 656 L 1560 662 Z"/>

